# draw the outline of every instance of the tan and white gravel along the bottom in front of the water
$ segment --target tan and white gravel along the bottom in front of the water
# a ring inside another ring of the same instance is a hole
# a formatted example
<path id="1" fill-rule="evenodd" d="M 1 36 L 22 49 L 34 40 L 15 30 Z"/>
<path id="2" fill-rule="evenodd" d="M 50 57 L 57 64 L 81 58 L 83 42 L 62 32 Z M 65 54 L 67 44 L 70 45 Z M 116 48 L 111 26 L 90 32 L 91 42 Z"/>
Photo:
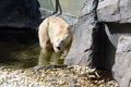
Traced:
<path id="1" fill-rule="evenodd" d="M 108 71 L 86 66 L 0 69 L 0 87 L 119 87 Z"/>

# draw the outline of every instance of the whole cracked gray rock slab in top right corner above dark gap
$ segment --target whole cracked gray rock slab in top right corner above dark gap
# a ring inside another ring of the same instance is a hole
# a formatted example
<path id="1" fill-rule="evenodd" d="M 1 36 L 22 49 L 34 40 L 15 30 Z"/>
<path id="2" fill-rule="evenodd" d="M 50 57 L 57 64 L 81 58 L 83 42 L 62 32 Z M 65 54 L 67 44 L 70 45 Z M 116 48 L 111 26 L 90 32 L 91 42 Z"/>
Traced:
<path id="1" fill-rule="evenodd" d="M 97 15 L 100 22 L 131 23 L 131 0 L 99 1 Z"/>

